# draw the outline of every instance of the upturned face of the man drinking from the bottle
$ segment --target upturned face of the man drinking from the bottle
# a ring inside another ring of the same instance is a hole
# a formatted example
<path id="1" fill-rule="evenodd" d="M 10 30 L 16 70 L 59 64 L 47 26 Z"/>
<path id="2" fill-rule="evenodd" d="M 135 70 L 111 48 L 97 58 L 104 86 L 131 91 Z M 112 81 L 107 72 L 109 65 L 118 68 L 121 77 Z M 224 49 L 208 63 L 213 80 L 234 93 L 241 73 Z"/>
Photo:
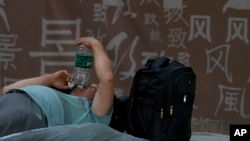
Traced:
<path id="1" fill-rule="evenodd" d="M 76 87 L 71 92 L 71 95 L 79 96 L 79 97 L 85 97 L 85 98 L 93 101 L 97 89 L 98 89 L 98 84 L 90 84 L 89 86 L 87 86 L 85 88 Z"/>

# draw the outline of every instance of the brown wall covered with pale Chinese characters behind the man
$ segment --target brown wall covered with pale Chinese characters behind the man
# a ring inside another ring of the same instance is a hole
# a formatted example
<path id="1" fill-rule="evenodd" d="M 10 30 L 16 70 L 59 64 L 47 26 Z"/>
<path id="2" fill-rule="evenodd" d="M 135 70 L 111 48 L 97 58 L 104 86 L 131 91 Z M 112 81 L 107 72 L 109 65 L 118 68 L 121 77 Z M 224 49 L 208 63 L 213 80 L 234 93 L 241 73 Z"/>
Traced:
<path id="1" fill-rule="evenodd" d="M 250 123 L 249 13 L 250 0 L 0 0 L 0 87 L 72 72 L 75 39 L 92 36 L 112 59 L 118 96 L 148 58 L 191 66 L 193 131 L 227 134 Z"/>

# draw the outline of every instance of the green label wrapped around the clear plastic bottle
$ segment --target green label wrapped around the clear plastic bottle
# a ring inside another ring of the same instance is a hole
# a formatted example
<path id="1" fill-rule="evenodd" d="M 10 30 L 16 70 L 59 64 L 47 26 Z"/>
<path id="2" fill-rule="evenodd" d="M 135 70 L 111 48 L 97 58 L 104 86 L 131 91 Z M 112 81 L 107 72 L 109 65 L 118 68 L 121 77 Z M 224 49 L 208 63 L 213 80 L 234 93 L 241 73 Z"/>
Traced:
<path id="1" fill-rule="evenodd" d="M 75 67 L 91 69 L 93 64 L 93 56 L 77 54 L 75 58 Z"/>

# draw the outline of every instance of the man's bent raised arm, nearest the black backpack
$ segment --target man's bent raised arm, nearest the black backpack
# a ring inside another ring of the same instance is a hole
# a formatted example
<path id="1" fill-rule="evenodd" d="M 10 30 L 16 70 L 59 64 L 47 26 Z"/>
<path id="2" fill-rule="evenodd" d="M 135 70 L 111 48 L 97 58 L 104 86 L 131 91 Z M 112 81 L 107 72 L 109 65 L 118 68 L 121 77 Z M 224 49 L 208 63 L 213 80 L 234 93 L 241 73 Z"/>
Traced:
<path id="1" fill-rule="evenodd" d="M 102 43 L 95 38 L 80 38 L 76 41 L 76 44 L 84 44 L 93 50 L 99 87 L 93 100 L 92 110 L 95 114 L 104 116 L 110 111 L 114 98 L 114 74 L 111 60 L 107 56 Z"/>

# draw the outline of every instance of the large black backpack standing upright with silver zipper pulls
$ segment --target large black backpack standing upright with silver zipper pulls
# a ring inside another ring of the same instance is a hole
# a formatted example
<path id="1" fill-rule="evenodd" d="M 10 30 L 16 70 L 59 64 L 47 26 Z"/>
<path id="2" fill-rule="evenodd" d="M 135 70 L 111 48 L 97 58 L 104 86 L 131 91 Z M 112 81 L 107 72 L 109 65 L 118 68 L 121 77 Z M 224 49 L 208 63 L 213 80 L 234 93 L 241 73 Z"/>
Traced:
<path id="1" fill-rule="evenodd" d="M 151 141 L 189 141 L 196 75 L 168 57 L 149 59 L 133 79 L 128 133 Z"/>

